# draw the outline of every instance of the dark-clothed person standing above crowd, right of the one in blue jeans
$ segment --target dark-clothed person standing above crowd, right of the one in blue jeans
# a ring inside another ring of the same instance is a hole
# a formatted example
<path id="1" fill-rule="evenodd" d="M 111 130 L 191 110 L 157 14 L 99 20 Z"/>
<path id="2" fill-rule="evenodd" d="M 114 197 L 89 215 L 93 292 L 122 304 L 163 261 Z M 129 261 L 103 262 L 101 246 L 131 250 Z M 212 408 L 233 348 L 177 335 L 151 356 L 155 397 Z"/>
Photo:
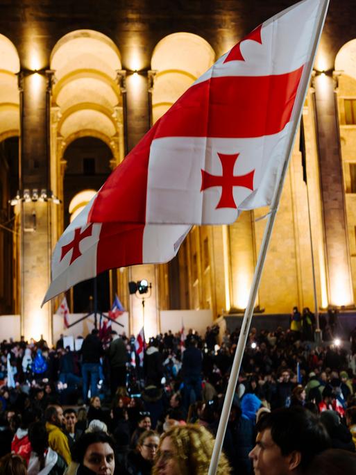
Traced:
<path id="1" fill-rule="evenodd" d="M 128 362 L 128 352 L 126 344 L 117 335 L 115 330 L 111 331 L 112 342 L 108 348 L 108 358 L 110 363 L 110 387 L 112 396 L 118 386 L 126 385 L 126 363 Z"/>

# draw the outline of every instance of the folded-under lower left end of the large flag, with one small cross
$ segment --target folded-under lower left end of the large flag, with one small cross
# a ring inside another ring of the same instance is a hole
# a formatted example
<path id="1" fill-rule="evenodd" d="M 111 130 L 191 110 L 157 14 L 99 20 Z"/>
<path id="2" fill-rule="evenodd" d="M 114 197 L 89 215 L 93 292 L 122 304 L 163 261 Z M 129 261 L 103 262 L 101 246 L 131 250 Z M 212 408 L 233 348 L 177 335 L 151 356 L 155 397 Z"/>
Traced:
<path id="1" fill-rule="evenodd" d="M 190 226 L 88 223 L 92 203 L 69 224 L 52 255 L 52 281 L 42 305 L 78 282 L 116 267 L 171 260 Z"/>

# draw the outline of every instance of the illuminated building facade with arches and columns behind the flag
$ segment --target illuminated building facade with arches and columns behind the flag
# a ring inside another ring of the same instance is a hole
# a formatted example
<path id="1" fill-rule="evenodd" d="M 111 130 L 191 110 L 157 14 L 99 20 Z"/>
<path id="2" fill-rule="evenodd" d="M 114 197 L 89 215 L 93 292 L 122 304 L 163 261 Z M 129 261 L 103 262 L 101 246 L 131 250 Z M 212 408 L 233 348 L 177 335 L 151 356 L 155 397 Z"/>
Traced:
<path id="1" fill-rule="evenodd" d="M 51 340 L 58 300 L 42 310 L 40 302 L 69 220 L 214 60 L 293 3 L 0 1 L 0 315 L 20 314 L 26 338 Z M 303 110 L 321 308 L 355 305 L 355 13 L 353 2 L 331 1 Z M 243 309 L 266 212 L 195 226 L 167 265 L 108 272 L 101 310 L 117 292 L 137 333 L 141 303 L 128 281 L 141 278 L 153 290 L 148 334 L 159 330 L 160 310 Z M 258 295 L 266 313 L 314 308 L 309 233 L 297 137 Z M 67 292 L 71 310 L 87 310 L 87 285 Z"/>

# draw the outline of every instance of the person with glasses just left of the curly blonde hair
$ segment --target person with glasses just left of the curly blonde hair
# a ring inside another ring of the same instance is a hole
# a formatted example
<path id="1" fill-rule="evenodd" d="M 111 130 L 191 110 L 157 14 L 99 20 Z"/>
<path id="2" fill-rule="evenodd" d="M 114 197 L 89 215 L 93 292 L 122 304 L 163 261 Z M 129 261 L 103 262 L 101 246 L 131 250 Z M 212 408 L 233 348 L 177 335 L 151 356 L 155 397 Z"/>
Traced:
<path id="1" fill-rule="evenodd" d="M 130 475 L 151 475 L 160 437 L 155 431 L 145 431 L 137 440 L 135 450 L 128 453 L 126 472 Z"/>

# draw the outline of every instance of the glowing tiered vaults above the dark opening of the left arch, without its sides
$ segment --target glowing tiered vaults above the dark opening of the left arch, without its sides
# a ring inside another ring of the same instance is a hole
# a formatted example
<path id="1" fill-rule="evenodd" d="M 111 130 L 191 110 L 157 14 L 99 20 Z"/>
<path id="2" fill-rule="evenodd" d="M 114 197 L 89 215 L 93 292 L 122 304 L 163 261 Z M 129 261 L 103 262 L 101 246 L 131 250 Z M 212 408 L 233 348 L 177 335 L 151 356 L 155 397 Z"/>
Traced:
<path id="1" fill-rule="evenodd" d="M 99 31 L 72 31 L 53 47 L 50 66 L 58 135 L 66 140 L 83 128 L 109 139 L 119 135 L 122 97 L 116 78 L 121 56 L 115 43 Z"/>

